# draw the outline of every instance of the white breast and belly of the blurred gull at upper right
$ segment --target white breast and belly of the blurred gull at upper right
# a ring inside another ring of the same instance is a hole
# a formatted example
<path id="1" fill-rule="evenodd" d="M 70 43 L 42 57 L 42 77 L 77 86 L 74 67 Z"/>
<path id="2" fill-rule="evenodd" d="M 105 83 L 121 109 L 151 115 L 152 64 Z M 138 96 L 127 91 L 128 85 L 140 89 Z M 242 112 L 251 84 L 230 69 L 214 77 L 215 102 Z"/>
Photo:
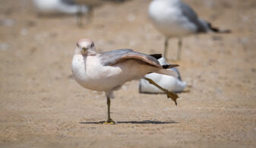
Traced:
<path id="1" fill-rule="evenodd" d="M 182 14 L 177 0 L 152 1 L 148 13 L 155 27 L 165 36 L 185 36 L 197 30 L 188 17 Z"/>

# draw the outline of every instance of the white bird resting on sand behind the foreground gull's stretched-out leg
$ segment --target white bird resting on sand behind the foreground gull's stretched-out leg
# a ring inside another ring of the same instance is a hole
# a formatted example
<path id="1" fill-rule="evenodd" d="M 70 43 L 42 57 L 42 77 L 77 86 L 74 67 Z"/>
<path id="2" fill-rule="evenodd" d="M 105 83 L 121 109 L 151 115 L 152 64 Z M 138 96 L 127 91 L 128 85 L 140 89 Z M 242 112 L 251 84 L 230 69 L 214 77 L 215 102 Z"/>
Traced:
<path id="1" fill-rule="evenodd" d="M 158 61 L 160 62 L 160 65 L 168 65 L 168 63 L 166 63 L 165 58 L 163 57 L 158 59 Z M 177 68 L 169 68 L 169 70 L 176 71 L 179 74 L 179 71 Z M 182 77 L 180 74 L 179 74 L 179 77 L 177 78 L 168 76 L 166 74 L 156 74 L 156 73 L 147 74 L 145 77 L 153 80 L 158 85 L 160 85 L 160 87 L 163 87 L 164 89 L 169 90 L 171 92 L 175 92 L 175 93 L 182 92 L 185 89 L 187 84 L 182 81 Z M 140 80 L 139 92 L 140 93 L 163 93 L 162 90 L 150 84 L 145 79 Z"/>

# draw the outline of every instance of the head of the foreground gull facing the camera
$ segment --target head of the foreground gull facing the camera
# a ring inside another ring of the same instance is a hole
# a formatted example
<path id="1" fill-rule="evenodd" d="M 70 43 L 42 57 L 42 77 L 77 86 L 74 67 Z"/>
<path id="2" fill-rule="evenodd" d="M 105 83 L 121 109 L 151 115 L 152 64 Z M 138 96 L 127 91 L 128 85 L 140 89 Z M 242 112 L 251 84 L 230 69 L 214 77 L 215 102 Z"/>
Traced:
<path id="1" fill-rule="evenodd" d="M 75 49 L 75 54 L 78 55 L 96 55 L 96 48 L 92 39 L 79 39 Z"/>

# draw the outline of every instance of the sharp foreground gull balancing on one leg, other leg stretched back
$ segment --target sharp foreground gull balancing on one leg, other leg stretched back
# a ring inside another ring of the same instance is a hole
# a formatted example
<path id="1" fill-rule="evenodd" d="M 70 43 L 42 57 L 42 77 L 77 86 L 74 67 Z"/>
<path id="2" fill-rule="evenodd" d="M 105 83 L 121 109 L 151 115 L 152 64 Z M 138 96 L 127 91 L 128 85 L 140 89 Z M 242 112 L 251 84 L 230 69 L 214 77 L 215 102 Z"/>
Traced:
<path id="1" fill-rule="evenodd" d="M 160 55 L 145 55 L 131 49 L 97 53 L 91 39 L 80 39 L 74 49 L 72 73 L 81 86 L 105 92 L 108 105 L 106 123 L 115 123 L 110 118 L 110 98 L 114 90 L 119 90 L 124 83 L 141 79 L 151 72 L 178 77 L 175 71 L 166 70 L 178 65 L 160 65 L 156 58 L 160 58 Z M 153 80 L 146 80 L 159 87 Z M 161 87 L 160 89 L 176 103 L 179 96 Z"/>

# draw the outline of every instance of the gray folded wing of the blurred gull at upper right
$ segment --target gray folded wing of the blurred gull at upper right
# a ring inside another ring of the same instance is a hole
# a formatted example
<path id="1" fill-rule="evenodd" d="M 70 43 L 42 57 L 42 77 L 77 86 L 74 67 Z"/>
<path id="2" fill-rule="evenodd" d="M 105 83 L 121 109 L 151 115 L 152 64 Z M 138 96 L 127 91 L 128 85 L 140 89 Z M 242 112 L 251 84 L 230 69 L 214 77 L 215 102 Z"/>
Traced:
<path id="1" fill-rule="evenodd" d="M 198 27 L 198 33 L 207 32 L 207 28 L 205 24 L 201 23 L 201 20 L 198 19 L 198 14 L 194 12 L 194 10 L 189 7 L 189 5 L 185 4 L 184 2 L 179 2 L 179 8 L 182 10 L 182 14 L 191 21 L 191 23 L 195 24 Z"/>

